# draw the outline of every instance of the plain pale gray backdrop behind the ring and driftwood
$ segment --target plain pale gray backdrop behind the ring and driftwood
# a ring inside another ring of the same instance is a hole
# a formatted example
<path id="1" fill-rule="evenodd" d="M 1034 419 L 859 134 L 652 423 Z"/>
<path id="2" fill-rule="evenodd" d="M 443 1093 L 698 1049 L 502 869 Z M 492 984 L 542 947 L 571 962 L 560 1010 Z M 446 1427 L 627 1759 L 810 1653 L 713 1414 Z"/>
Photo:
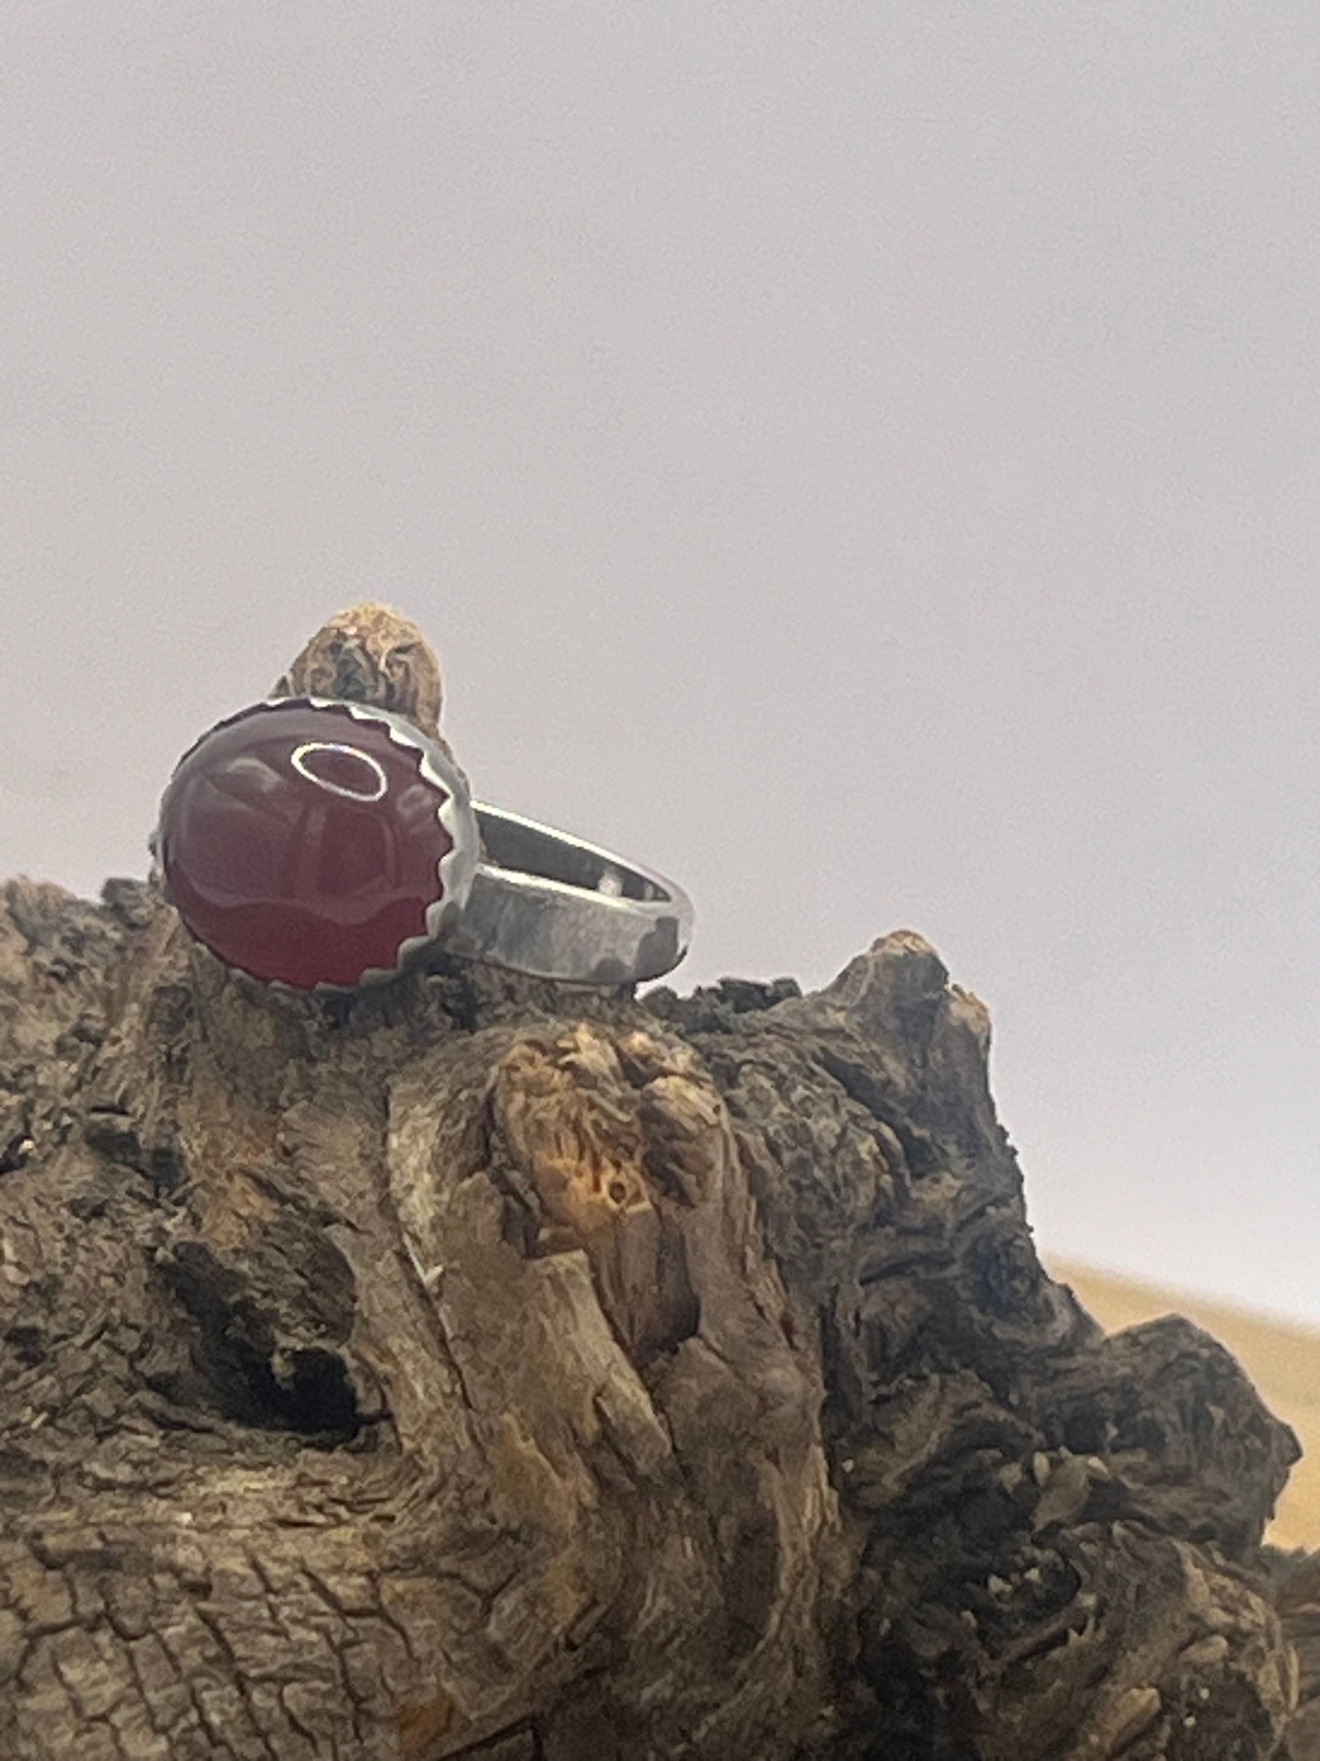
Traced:
<path id="1" fill-rule="evenodd" d="M 1320 1319 L 1320 9 L 0 7 L 0 872 L 359 597 L 683 984 L 928 933 L 1045 1247 Z"/>

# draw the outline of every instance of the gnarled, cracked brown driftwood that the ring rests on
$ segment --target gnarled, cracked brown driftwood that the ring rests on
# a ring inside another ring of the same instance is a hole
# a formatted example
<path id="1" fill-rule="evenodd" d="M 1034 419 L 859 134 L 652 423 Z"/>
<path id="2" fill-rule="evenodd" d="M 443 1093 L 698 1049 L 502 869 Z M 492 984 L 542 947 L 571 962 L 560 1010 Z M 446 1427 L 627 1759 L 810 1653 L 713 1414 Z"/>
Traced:
<path id="1" fill-rule="evenodd" d="M 1045 1277 L 987 1039 L 912 933 L 326 1002 L 7 882 L 0 1756 L 1288 1754 L 1295 1440 Z"/>

